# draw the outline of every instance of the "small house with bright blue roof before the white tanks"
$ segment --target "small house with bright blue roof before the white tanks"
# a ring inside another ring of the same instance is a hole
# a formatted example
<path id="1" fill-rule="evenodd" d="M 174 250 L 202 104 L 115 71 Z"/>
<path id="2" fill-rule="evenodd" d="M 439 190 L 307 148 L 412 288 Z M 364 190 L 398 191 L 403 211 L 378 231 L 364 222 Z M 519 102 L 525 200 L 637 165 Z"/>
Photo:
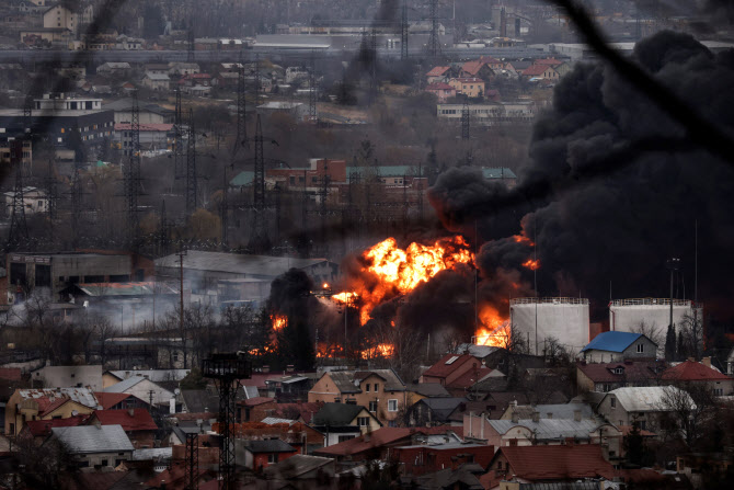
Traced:
<path id="1" fill-rule="evenodd" d="M 587 363 L 620 363 L 624 360 L 655 358 L 657 344 L 642 333 L 601 332 L 581 354 Z"/>

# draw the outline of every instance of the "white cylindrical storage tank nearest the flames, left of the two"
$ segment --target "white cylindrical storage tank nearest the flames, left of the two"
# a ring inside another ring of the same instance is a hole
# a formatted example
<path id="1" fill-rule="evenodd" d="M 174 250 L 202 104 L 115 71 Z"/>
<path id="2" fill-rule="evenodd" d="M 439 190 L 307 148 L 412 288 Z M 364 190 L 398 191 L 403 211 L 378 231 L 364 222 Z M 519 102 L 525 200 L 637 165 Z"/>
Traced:
<path id="1" fill-rule="evenodd" d="M 530 354 L 542 355 L 550 338 L 574 354 L 588 343 L 587 298 L 511 299 L 509 320 L 513 333 L 521 335 Z"/>

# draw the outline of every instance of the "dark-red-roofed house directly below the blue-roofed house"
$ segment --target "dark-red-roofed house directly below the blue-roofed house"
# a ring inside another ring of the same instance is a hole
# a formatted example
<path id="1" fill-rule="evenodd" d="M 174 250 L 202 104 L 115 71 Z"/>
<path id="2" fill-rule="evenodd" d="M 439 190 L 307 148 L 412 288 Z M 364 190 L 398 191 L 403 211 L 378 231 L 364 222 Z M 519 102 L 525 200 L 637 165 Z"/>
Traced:
<path id="1" fill-rule="evenodd" d="M 576 363 L 580 391 L 611 391 L 626 386 L 657 385 L 664 361 L 623 361 L 616 363 Z"/>

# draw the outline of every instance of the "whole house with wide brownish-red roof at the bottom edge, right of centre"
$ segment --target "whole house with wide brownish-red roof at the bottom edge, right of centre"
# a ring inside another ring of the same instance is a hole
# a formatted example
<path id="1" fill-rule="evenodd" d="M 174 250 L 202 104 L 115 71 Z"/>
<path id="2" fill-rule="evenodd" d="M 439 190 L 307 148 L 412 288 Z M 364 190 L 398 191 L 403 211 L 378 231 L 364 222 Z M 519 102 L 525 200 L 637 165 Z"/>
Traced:
<path id="1" fill-rule="evenodd" d="M 600 445 L 514 446 L 500 447 L 480 478 L 485 489 L 501 487 L 501 481 L 518 483 L 562 483 L 583 479 L 616 476 L 615 468 L 604 459 Z M 595 482 L 594 488 L 599 488 Z"/>

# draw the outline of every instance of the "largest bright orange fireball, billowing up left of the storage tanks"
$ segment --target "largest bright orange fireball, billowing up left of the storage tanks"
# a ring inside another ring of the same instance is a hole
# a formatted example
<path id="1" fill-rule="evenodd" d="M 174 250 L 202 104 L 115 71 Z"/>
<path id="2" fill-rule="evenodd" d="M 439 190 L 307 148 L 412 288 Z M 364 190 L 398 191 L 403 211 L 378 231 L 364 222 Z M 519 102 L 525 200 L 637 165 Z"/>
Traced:
<path id="1" fill-rule="evenodd" d="M 356 301 L 360 323 L 365 324 L 372 309 L 383 299 L 408 294 L 446 269 L 472 264 L 474 254 L 460 236 L 437 240 L 432 246 L 411 243 L 404 250 L 398 247 L 394 238 L 388 238 L 366 250 L 363 259 L 369 264 L 363 272 L 377 276 L 377 286 L 364 286 L 360 290 L 340 293 L 332 298 L 346 304 Z"/>

